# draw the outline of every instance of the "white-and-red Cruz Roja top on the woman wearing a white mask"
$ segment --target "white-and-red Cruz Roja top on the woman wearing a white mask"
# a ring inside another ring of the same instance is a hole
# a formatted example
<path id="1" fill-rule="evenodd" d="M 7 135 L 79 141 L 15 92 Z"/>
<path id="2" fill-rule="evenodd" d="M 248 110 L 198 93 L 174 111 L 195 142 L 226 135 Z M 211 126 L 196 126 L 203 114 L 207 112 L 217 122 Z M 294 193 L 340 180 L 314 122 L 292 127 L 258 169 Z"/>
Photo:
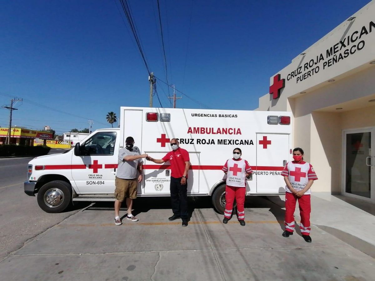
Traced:
<path id="1" fill-rule="evenodd" d="M 233 187 L 245 187 L 245 175 L 252 173 L 245 159 L 234 160 L 233 158 L 226 161 L 223 171 L 227 172 L 226 185 Z"/>

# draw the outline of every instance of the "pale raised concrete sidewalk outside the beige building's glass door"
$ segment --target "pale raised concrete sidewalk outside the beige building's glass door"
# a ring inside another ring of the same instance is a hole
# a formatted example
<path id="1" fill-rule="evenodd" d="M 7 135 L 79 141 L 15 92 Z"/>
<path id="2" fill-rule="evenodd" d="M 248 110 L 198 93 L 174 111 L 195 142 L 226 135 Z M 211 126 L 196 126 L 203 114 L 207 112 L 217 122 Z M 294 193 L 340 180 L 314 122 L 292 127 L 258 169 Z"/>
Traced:
<path id="1" fill-rule="evenodd" d="M 375 204 L 327 192 L 311 194 L 311 224 L 375 258 Z M 285 209 L 285 196 L 269 196 Z M 298 203 L 296 220 L 300 220 Z M 314 232 L 311 233 L 314 239 Z"/>

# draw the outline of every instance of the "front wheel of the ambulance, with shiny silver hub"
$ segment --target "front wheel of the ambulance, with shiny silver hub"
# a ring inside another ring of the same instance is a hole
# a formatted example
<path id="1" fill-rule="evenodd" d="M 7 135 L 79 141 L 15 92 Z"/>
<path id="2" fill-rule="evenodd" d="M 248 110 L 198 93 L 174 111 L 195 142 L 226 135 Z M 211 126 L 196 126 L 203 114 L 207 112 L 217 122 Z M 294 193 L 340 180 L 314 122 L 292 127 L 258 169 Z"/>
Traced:
<path id="1" fill-rule="evenodd" d="M 72 186 L 65 181 L 50 181 L 43 185 L 37 195 L 39 207 L 47 213 L 64 211 L 72 200 Z"/>

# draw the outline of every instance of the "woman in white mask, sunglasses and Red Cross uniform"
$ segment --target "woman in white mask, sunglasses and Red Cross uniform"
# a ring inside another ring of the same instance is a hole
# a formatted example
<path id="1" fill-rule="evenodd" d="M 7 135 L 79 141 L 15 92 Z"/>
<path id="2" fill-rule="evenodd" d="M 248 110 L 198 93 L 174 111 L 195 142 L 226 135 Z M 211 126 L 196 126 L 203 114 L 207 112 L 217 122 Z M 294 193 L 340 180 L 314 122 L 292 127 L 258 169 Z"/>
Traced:
<path id="1" fill-rule="evenodd" d="M 223 223 L 228 223 L 233 210 L 233 201 L 236 197 L 237 219 L 242 226 L 245 226 L 245 194 L 246 177 L 253 171 L 248 161 L 241 158 L 242 151 L 239 148 L 233 150 L 233 158 L 226 160 L 222 170 L 227 175 L 225 187 L 225 212 Z"/>

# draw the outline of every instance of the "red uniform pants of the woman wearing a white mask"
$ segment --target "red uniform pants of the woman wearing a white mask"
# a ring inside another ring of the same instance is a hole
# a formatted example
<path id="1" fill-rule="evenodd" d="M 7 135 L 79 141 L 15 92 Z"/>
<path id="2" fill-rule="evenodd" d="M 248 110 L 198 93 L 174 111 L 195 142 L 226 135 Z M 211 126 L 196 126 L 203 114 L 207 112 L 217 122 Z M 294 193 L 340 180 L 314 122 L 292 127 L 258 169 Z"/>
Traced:
<path id="1" fill-rule="evenodd" d="M 233 186 L 226 186 L 225 187 L 225 211 L 224 217 L 230 218 L 232 215 L 233 210 L 233 202 L 234 198 L 236 197 L 237 202 L 237 218 L 239 220 L 245 220 L 245 193 L 246 187 L 233 187 Z"/>

